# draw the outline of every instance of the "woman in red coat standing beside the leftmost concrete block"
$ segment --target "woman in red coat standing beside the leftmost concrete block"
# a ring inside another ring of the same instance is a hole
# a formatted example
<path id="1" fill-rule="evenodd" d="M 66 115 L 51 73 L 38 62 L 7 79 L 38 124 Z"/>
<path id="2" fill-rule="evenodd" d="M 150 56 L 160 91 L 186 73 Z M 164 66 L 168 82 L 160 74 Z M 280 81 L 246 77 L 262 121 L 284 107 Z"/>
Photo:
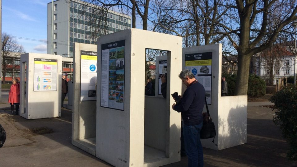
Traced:
<path id="1" fill-rule="evenodd" d="M 10 87 L 8 103 L 10 103 L 11 115 L 17 115 L 19 111 L 19 79 L 12 79 Z M 13 112 L 15 108 L 15 113 Z"/>

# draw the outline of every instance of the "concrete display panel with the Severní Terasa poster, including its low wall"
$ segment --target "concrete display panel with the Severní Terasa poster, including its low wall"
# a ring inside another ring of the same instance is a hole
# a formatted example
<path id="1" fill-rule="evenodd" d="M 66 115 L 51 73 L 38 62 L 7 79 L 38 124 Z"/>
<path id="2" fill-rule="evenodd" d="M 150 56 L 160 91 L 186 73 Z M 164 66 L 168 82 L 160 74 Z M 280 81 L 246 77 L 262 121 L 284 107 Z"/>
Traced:
<path id="1" fill-rule="evenodd" d="M 201 139 L 202 146 L 221 150 L 247 143 L 248 97 L 221 96 L 222 44 L 183 48 L 183 69 L 191 70 L 204 86 L 209 113 L 216 126 L 214 143 L 213 139 Z"/>

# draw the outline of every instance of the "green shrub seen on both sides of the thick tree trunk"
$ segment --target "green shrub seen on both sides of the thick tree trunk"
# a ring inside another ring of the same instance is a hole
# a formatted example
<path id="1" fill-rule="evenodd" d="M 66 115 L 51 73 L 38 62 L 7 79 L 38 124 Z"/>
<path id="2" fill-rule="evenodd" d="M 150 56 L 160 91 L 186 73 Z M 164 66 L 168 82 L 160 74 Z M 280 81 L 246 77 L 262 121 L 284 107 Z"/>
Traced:
<path id="1" fill-rule="evenodd" d="M 228 83 L 228 95 L 233 96 L 235 91 L 236 74 L 222 74 L 222 77 L 226 78 Z M 266 83 L 264 79 L 259 76 L 251 74 L 248 77 L 248 96 L 249 97 L 260 97 L 264 96 L 266 92 Z"/>

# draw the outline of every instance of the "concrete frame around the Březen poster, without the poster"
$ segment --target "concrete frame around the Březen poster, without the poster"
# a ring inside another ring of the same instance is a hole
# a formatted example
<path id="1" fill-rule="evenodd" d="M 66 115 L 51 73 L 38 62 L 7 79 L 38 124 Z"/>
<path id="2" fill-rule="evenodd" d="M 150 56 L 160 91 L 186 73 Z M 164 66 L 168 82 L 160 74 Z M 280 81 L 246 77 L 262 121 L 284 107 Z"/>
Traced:
<path id="1" fill-rule="evenodd" d="M 80 51 L 97 52 L 97 45 L 74 44 L 72 93 L 72 144 L 95 156 L 96 101 L 80 101 Z M 97 94 L 98 96 L 98 94 Z"/>

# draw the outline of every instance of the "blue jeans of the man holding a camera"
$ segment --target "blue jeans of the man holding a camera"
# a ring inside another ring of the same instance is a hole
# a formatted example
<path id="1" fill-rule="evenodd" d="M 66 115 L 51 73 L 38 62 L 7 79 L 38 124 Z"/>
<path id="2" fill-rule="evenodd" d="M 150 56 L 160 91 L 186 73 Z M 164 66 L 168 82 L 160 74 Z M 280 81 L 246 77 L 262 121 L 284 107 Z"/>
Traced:
<path id="1" fill-rule="evenodd" d="M 188 156 L 188 167 L 203 166 L 203 149 L 200 141 L 200 130 L 203 122 L 195 126 L 183 126 L 185 150 Z"/>

